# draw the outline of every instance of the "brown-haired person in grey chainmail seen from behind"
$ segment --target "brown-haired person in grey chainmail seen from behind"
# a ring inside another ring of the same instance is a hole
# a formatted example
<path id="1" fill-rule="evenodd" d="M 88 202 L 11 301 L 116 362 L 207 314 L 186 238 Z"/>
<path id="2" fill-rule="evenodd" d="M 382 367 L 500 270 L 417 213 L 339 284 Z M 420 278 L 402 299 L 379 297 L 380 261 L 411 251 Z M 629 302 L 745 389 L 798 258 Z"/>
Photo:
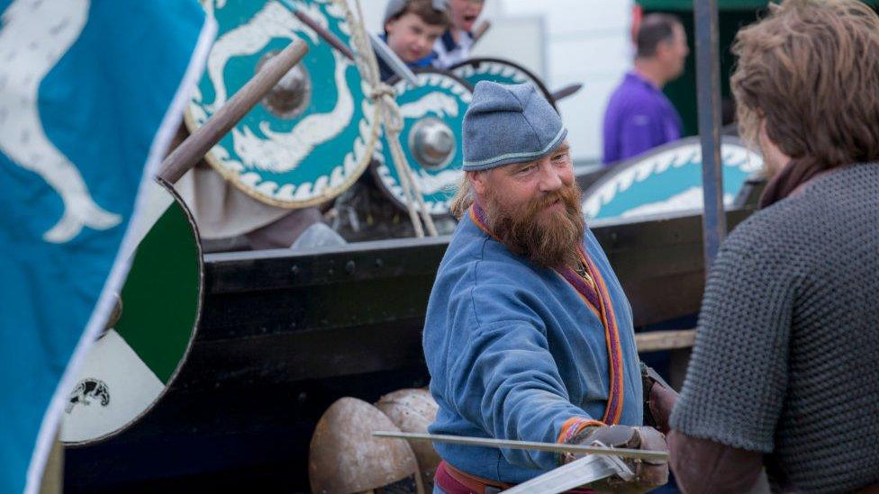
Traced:
<path id="1" fill-rule="evenodd" d="M 771 175 L 711 266 L 671 416 L 685 492 L 879 491 L 879 16 L 785 0 L 731 86 Z"/>

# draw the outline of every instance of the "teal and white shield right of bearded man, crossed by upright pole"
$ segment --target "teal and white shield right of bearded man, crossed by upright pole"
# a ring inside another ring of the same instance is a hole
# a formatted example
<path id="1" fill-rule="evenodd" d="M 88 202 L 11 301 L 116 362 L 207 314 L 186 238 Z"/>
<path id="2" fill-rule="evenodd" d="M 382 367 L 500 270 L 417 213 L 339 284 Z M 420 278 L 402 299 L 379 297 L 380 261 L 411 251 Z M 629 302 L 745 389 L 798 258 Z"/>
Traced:
<path id="1" fill-rule="evenodd" d="M 723 204 L 731 206 L 763 158 L 736 138 L 720 146 Z M 604 220 L 702 210 L 702 147 L 698 138 L 678 140 L 614 165 L 583 194 L 586 218 Z"/>

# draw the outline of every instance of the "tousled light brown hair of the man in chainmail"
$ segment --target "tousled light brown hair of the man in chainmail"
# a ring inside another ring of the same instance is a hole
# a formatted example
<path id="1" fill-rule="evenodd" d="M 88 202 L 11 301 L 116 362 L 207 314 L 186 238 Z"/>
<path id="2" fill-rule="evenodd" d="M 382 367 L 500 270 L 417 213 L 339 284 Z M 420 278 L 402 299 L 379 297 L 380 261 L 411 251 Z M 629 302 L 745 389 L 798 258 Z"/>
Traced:
<path id="1" fill-rule="evenodd" d="M 857 0 L 785 0 L 739 31 L 742 137 L 815 170 L 879 159 L 879 16 Z"/>

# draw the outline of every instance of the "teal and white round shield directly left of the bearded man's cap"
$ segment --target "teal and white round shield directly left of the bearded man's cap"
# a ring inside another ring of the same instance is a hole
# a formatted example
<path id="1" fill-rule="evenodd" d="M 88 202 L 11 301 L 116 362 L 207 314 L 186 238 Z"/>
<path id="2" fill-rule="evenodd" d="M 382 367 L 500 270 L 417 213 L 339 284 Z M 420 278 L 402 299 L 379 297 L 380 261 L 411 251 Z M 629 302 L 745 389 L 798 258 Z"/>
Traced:
<path id="1" fill-rule="evenodd" d="M 461 126 L 472 92 L 467 83 L 448 72 L 423 69 L 415 77 L 417 86 L 399 78 L 390 81 L 403 116 L 400 144 L 428 211 L 443 215 L 449 212 L 449 201 L 464 175 Z M 406 209 L 386 133 L 376 144 L 373 173 L 382 191 Z"/>

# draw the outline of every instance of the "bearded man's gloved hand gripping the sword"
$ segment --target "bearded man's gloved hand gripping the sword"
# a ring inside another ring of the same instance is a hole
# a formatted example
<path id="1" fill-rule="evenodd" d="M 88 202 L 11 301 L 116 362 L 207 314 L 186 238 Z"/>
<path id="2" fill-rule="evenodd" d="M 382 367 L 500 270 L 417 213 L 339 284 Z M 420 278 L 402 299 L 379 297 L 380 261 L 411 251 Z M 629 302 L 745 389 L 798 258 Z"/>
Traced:
<path id="1" fill-rule="evenodd" d="M 618 448 L 668 451 L 666 436 L 653 427 L 587 427 L 571 441 L 576 445 L 593 445 L 596 442 Z M 566 454 L 565 462 L 569 463 L 578 457 L 580 455 Z M 635 472 L 633 480 L 623 481 L 612 477 L 589 484 L 589 487 L 598 491 L 636 493 L 656 489 L 668 481 L 668 463 L 665 461 L 629 458 L 622 458 L 622 461 L 630 466 L 632 472 Z"/>

